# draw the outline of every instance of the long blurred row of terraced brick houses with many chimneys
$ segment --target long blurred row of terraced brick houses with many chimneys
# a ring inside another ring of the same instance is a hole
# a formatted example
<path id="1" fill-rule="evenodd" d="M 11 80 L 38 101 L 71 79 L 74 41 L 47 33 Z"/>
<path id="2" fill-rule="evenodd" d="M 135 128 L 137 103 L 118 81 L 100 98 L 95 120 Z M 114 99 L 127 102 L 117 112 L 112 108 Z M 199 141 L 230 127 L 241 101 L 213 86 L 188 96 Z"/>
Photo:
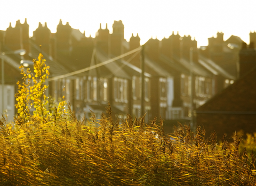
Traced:
<path id="1" fill-rule="evenodd" d="M 100 118 L 109 102 L 113 116 L 119 119 L 124 120 L 127 113 L 136 117 L 147 113 L 146 120 L 162 116 L 166 124 L 176 121 L 194 124 L 195 108 L 237 78 L 239 48 L 228 47 L 230 43 L 223 41 L 223 33 L 209 38 L 209 46 L 201 48 L 191 36 L 182 37 L 179 33 L 162 40 L 151 38 L 143 46 L 142 65 L 139 35 L 125 40 L 122 21 L 114 21 L 113 33 L 107 25 L 103 29 L 100 24 L 95 38 L 85 37 L 85 33 L 71 28 L 68 22 L 64 25 L 61 20 L 56 33 L 51 33 L 46 23 L 39 23 L 33 37 L 29 37 L 28 30 L 26 21 L 23 24 L 17 21 L 14 28 L 0 31 L 1 52 L 27 50 L 23 57 L 5 56 L 12 60 L 5 61 L 6 68 L 12 70 L 4 72 L 5 86 L 13 87 L 13 102 L 15 81 L 20 78 L 20 60 L 32 60 L 42 49 L 50 66 L 47 94 L 56 102 L 65 95 L 78 119 L 84 114 L 90 118 L 90 110 Z M 239 47 L 236 37 L 230 38 L 230 42 L 234 42 L 230 46 Z M 121 57 L 112 60 L 118 56 Z M 229 58 L 229 66 L 223 64 L 227 56 L 234 56 Z M 144 66 L 143 78 L 141 66 Z M 82 69 L 86 70 L 65 75 Z"/>

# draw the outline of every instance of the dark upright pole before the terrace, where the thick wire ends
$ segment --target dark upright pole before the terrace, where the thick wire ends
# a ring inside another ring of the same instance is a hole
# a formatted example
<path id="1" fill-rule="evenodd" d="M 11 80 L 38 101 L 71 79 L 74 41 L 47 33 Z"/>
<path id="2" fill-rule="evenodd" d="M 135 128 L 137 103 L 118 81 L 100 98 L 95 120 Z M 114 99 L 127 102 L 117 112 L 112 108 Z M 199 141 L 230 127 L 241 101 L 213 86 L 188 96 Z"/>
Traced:
<path id="1" fill-rule="evenodd" d="M 145 56 L 144 56 L 144 48 L 145 46 L 142 45 L 141 47 L 141 56 L 140 56 L 140 66 L 141 66 L 141 89 L 140 89 L 140 114 L 141 116 L 145 114 L 145 77 L 144 77 L 144 72 L 145 72 Z"/>

